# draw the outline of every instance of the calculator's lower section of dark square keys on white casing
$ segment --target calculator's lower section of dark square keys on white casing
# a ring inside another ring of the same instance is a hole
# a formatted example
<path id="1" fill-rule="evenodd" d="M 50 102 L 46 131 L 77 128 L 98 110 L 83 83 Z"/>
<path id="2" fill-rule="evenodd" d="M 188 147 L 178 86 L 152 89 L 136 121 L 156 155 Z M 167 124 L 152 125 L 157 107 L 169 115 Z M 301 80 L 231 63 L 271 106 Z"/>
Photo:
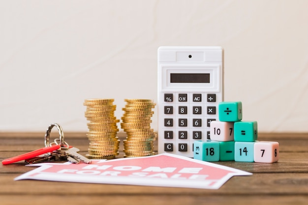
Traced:
<path id="1" fill-rule="evenodd" d="M 163 151 L 193 157 L 193 142 L 209 139 L 210 123 L 218 120 L 221 93 L 166 92 L 159 108 Z"/>

